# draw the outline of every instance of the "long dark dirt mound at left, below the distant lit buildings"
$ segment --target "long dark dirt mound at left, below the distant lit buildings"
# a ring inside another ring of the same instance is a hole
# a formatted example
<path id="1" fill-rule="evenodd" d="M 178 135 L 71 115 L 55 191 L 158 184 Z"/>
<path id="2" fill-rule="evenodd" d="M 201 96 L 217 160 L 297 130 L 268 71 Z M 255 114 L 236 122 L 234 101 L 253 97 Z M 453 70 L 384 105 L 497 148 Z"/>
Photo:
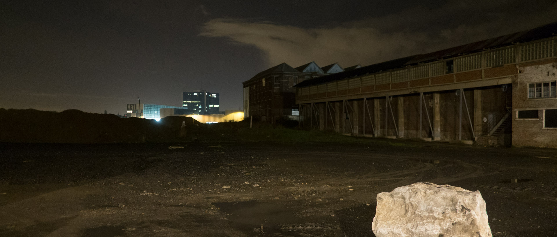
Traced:
<path id="1" fill-rule="evenodd" d="M 0 142 L 167 142 L 186 139 L 185 131 L 194 125 L 199 122 L 191 117 L 165 117 L 157 122 L 79 110 L 0 108 Z"/>

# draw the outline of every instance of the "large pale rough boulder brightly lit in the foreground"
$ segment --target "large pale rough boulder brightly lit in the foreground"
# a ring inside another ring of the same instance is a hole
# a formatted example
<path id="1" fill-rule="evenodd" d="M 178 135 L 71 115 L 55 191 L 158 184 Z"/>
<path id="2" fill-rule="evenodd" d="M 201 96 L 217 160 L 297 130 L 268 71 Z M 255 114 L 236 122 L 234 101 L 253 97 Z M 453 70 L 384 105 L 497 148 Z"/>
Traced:
<path id="1" fill-rule="evenodd" d="M 377 237 L 492 237 L 480 191 L 418 182 L 377 195 Z"/>

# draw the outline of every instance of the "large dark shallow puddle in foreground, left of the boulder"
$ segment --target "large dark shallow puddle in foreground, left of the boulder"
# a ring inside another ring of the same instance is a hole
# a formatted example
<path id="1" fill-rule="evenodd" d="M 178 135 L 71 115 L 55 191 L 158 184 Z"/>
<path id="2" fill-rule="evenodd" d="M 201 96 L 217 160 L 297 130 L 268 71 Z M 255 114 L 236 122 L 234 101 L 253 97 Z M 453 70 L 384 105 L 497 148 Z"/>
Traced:
<path id="1" fill-rule="evenodd" d="M 263 224 L 265 235 L 285 234 L 281 231 L 284 226 L 311 222 L 309 218 L 296 216 L 296 210 L 293 208 L 296 205 L 289 204 L 291 201 L 289 203 L 279 201 L 270 203 L 251 200 L 236 203 L 213 203 L 214 206 L 226 213 L 226 218 L 233 228 L 245 233 L 257 234 Z"/>

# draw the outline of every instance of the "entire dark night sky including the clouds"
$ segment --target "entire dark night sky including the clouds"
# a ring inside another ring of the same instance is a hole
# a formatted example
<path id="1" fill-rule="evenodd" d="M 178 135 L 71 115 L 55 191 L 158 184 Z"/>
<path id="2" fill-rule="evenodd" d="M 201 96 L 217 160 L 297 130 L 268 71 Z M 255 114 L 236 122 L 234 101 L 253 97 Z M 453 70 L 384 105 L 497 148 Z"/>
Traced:
<path id="1" fill-rule="evenodd" d="M 282 62 L 367 66 L 555 21 L 555 1 L 1 1 L 0 107 L 123 114 L 203 88 L 237 110 Z"/>

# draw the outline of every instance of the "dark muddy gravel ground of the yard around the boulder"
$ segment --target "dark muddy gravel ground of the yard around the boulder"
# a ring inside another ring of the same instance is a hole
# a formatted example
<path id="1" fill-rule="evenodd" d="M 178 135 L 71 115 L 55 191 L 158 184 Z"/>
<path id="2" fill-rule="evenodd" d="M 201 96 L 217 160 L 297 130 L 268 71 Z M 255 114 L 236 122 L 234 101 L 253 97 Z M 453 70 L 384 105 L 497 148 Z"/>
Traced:
<path id="1" fill-rule="evenodd" d="M 374 236 L 375 196 L 422 181 L 557 236 L 557 150 L 369 141 L 0 144 L 0 236 Z"/>

